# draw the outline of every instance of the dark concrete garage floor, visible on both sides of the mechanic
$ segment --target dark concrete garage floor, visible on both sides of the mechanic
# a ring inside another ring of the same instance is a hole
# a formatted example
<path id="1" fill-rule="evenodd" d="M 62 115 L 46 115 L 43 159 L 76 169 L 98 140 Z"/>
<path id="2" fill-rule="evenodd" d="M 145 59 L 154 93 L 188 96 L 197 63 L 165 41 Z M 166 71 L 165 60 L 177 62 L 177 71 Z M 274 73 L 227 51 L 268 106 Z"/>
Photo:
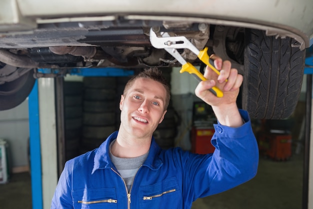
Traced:
<path id="1" fill-rule="evenodd" d="M 252 180 L 220 194 L 197 199 L 192 209 L 300 209 L 302 200 L 302 155 L 288 161 L 261 157 Z M 31 209 L 29 173 L 15 173 L 0 184 L 0 208 Z"/>

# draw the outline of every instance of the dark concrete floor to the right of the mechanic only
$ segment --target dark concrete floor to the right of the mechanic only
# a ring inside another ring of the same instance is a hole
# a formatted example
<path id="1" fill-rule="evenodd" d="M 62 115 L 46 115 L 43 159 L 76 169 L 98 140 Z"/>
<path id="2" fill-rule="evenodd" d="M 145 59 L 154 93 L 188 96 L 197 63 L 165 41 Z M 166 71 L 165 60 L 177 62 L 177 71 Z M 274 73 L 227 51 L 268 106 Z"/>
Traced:
<path id="1" fill-rule="evenodd" d="M 301 209 L 303 157 L 288 161 L 260 158 L 250 181 L 228 191 L 197 199 L 192 209 Z"/>

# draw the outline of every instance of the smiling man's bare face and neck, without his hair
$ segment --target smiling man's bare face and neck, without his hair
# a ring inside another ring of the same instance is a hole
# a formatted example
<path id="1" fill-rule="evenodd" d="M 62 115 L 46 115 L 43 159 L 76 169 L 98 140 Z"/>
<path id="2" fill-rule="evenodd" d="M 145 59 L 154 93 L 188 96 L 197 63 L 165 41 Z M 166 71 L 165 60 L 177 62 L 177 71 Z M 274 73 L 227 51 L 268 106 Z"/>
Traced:
<path id="1" fill-rule="evenodd" d="M 119 103 L 120 127 L 111 147 L 113 155 L 135 157 L 149 150 L 152 133 L 163 120 L 168 105 L 168 89 L 163 82 L 140 77 L 125 86 Z"/>

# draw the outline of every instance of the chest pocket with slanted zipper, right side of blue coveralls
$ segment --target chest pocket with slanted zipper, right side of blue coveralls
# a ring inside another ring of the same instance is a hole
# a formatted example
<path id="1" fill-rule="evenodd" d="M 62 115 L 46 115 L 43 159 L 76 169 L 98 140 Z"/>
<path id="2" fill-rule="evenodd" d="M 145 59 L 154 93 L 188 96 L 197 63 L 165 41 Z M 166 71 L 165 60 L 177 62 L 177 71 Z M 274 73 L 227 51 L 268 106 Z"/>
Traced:
<path id="1" fill-rule="evenodd" d="M 140 208 L 179 208 L 182 205 L 181 192 L 175 177 L 153 185 L 140 186 L 139 198 Z"/>

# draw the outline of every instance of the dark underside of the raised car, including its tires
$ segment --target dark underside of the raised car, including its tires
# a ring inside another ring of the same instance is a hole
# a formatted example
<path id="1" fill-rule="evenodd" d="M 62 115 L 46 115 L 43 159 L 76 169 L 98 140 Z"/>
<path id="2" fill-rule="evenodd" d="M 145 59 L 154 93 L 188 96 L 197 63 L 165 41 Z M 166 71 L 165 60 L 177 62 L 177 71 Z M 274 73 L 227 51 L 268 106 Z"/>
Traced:
<path id="1" fill-rule="evenodd" d="M 42 21 L 31 32 L 10 32 L 0 37 L 0 110 L 18 105 L 35 78 L 56 76 L 38 69 L 172 67 L 180 64 L 149 41 L 157 35 L 185 36 L 198 49 L 208 47 L 228 59 L 244 76 L 242 108 L 254 118 L 285 118 L 299 96 L 305 50 L 296 38 L 269 35 L 268 31 L 200 21 L 125 19 L 97 21 Z M 203 66 L 196 54 L 178 49 L 193 65 Z M 19 99 L 16 99 L 18 95 Z"/>

